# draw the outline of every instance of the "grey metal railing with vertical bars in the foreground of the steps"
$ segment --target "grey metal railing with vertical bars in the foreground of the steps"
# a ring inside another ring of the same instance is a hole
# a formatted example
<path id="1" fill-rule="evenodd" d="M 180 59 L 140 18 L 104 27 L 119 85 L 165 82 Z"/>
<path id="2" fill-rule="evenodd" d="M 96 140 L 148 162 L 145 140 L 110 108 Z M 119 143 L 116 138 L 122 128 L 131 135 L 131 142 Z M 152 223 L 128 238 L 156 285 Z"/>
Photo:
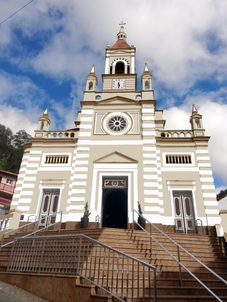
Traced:
<path id="1" fill-rule="evenodd" d="M 123 298 L 133 302 L 136 293 L 138 301 L 139 286 L 143 288 L 143 301 L 145 293 L 151 301 L 153 277 L 153 301 L 157 301 L 155 266 L 83 234 L 15 238 L 7 271 L 74 274 L 122 302 Z"/>

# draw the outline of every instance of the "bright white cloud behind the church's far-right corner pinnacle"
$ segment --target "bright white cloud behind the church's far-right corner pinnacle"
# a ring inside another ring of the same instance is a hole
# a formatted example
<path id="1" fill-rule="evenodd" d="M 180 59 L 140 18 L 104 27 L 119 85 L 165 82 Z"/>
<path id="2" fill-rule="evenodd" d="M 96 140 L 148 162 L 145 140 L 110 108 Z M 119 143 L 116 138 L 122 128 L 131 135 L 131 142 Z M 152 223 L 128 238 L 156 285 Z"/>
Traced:
<path id="1" fill-rule="evenodd" d="M 227 104 L 214 101 L 223 97 L 223 89 L 207 95 L 201 93 L 202 101 L 196 103 L 196 109 L 202 115 L 206 136 L 210 136 L 208 148 L 212 171 L 227 184 L 227 157 L 225 156 L 225 150 L 227 150 Z M 225 94 L 226 97 L 227 94 Z M 191 96 L 193 101 L 197 98 L 199 99 L 200 95 Z M 192 112 L 192 105 L 188 104 L 189 99 L 190 96 L 179 108 L 172 107 L 163 111 L 163 118 L 166 119 L 166 130 L 191 129 L 189 117 Z"/>

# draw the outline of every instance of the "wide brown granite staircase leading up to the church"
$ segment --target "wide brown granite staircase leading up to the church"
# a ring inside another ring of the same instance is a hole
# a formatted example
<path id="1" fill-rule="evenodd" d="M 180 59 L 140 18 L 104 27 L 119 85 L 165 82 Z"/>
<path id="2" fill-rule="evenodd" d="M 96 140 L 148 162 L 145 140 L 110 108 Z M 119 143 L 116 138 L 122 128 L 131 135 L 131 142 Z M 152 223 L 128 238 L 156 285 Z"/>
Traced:
<path id="1" fill-rule="evenodd" d="M 89 236 L 97 241 L 100 241 L 108 246 L 111 246 L 115 249 L 120 250 L 128 255 L 131 255 L 143 262 L 154 265 L 156 267 L 156 289 L 157 289 L 157 301 L 158 302 L 185 302 L 185 301 L 198 301 L 198 302 L 213 302 L 217 301 L 215 297 L 203 288 L 194 278 L 192 278 L 188 272 L 182 269 L 182 278 L 183 286 L 180 286 L 179 281 L 179 265 L 172 257 L 170 257 L 157 243 L 153 242 L 152 244 L 152 254 L 150 253 L 150 238 L 143 231 L 134 231 L 131 230 L 120 230 L 120 229 L 86 229 L 86 230 L 61 230 L 60 235 L 75 235 L 75 234 L 84 234 Z M 18 232 L 15 235 L 11 235 L 9 238 L 4 239 L 4 244 L 12 241 L 16 237 L 22 237 L 26 232 Z M 173 255 L 177 257 L 176 246 L 169 242 L 169 240 L 163 236 L 161 233 L 153 232 L 154 238 L 158 240 L 164 247 L 166 247 Z M 49 230 L 49 231 L 40 231 L 38 236 L 59 236 L 58 231 Z M 200 261 L 206 264 L 211 268 L 215 273 L 221 276 L 226 280 L 227 278 L 227 245 L 225 240 L 220 237 L 207 236 L 207 235 L 187 235 L 187 234 L 174 234 L 168 233 L 168 235 L 183 246 L 187 251 L 192 253 Z M 51 250 L 51 243 L 48 247 Z M 21 288 L 28 290 L 28 285 L 24 285 L 25 280 L 31 280 L 34 276 L 34 280 L 40 280 L 41 274 L 37 272 L 26 273 L 26 272 L 6 272 L 10 252 L 12 249 L 12 244 L 8 246 L 3 246 L 0 254 L 0 279 L 11 284 L 19 285 Z M 59 246 L 59 249 L 64 253 L 67 253 L 67 244 L 62 243 Z M 75 251 L 76 253 L 77 251 Z M 96 282 L 99 275 L 97 271 L 94 273 L 94 250 L 89 249 L 87 255 L 87 267 L 91 268 L 90 276 L 91 279 Z M 132 263 L 127 263 L 119 261 L 118 271 L 114 271 L 112 276 L 108 276 L 108 265 L 112 265 L 112 262 L 116 262 L 116 259 L 108 258 L 104 255 L 104 251 L 98 251 L 101 263 L 101 274 L 103 276 L 103 286 L 110 287 L 112 286 L 115 290 L 118 289 L 120 296 L 122 295 L 123 300 L 126 300 L 127 295 L 127 282 L 130 284 L 133 277 Z M 219 281 L 212 273 L 207 271 L 198 262 L 194 261 L 189 255 L 185 252 L 180 252 L 181 262 L 189 268 L 189 270 L 196 275 L 206 286 L 208 286 L 222 301 L 227 301 L 227 288 L 224 283 Z M 109 264 L 108 264 L 109 262 Z M 116 263 L 115 263 L 116 264 Z M 51 267 L 51 263 L 46 262 L 48 267 Z M 83 265 L 80 263 L 80 266 Z M 128 265 L 128 276 L 122 276 L 122 268 Z M 149 301 L 148 291 L 150 288 L 151 299 L 153 301 L 153 279 L 150 281 L 148 279 L 148 273 L 139 270 L 137 272 L 141 279 L 144 281 L 144 287 L 139 284 L 137 286 L 137 280 L 133 281 L 133 293 L 132 291 L 128 292 L 128 301 Z M 118 275 L 117 275 L 118 274 Z M 51 280 L 53 274 L 48 270 L 45 274 L 42 275 L 45 277 L 45 280 Z M 118 278 L 117 278 L 118 277 Z M 27 278 L 27 279 L 26 279 Z M 58 275 L 56 278 L 61 278 L 60 284 L 64 284 L 64 278 L 67 279 L 67 284 L 75 281 L 75 276 L 67 276 L 67 274 Z M 110 282 L 111 279 L 111 282 Z M 33 279 L 32 279 L 33 280 Z M 69 281 L 70 280 L 70 281 Z M 113 280 L 113 281 L 112 281 Z M 32 283 L 33 281 L 31 281 Z M 40 281 L 34 281 L 34 288 L 30 288 L 34 294 L 40 295 L 44 299 L 48 299 L 53 302 L 62 301 L 61 294 L 53 296 L 52 298 L 45 293 L 40 291 L 43 287 L 43 284 L 38 286 Z M 47 282 L 47 281 L 45 281 Z M 49 282 L 49 281 L 48 281 Z M 52 281 L 50 281 L 52 282 Z M 59 282 L 57 280 L 56 282 Z M 57 284 L 57 283 L 56 283 Z M 74 284 L 76 288 L 76 296 L 72 300 L 72 293 L 64 296 L 64 301 L 90 301 L 90 302 L 101 302 L 101 301 L 112 301 L 113 298 L 107 294 L 104 290 L 97 288 L 89 281 L 85 280 L 82 277 L 76 277 L 76 282 Z M 61 289 L 58 289 L 61 292 Z M 53 300 L 51 300 L 53 299 Z M 68 299 L 68 300 L 67 300 Z M 81 300 L 82 299 L 82 300 Z"/>

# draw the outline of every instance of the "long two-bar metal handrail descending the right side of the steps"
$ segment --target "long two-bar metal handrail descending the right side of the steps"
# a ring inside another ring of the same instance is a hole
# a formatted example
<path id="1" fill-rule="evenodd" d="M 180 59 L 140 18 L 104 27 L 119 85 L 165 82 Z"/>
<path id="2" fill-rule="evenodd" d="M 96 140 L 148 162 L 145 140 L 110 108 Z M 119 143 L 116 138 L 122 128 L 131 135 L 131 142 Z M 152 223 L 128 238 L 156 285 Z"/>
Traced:
<path id="1" fill-rule="evenodd" d="M 137 223 L 136 220 L 134 220 L 134 212 L 136 212 L 140 217 L 144 218 L 149 224 L 150 224 L 150 234 L 139 224 Z M 181 274 L 181 267 L 183 267 L 193 278 L 196 279 L 196 281 L 198 281 L 204 288 L 206 288 L 207 291 L 209 291 L 210 294 L 212 294 L 212 296 L 214 296 L 219 302 L 223 302 L 217 295 L 215 295 L 215 293 L 213 293 L 199 278 L 197 278 L 188 268 L 186 268 L 183 263 L 180 262 L 180 253 L 179 253 L 179 249 L 182 249 L 184 252 L 186 252 L 186 254 L 188 254 L 190 257 L 192 257 L 194 260 L 196 260 L 200 265 L 202 265 L 204 268 L 206 268 L 209 272 L 211 272 L 216 278 L 218 278 L 220 281 L 224 282 L 225 285 L 227 285 L 227 282 L 220 277 L 218 274 L 216 274 L 214 271 L 212 271 L 212 269 L 210 269 L 208 266 L 206 266 L 204 263 L 202 263 L 199 259 L 197 259 L 195 256 L 193 256 L 191 253 L 189 253 L 186 249 L 183 248 L 183 246 L 179 245 L 179 243 L 177 243 L 175 240 L 173 240 L 172 238 L 170 238 L 168 235 L 166 235 L 163 231 L 161 231 L 157 226 L 155 226 L 153 223 L 151 223 L 149 220 L 147 220 L 145 217 L 143 217 L 143 215 L 141 215 L 140 213 L 138 213 L 136 210 L 133 209 L 133 231 L 134 231 L 134 223 L 136 223 L 138 226 L 140 226 L 140 228 L 146 232 L 146 234 L 148 236 L 150 236 L 150 250 L 152 253 L 152 239 L 159 245 L 161 246 L 161 248 L 163 248 L 178 264 L 179 264 L 179 277 L 180 277 L 180 286 L 183 286 L 183 282 L 182 282 L 182 274 Z M 166 236 L 166 238 L 168 238 L 171 242 L 173 242 L 176 246 L 177 246 L 177 258 L 170 253 L 161 243 L 158 242 L 158 240 L 156 240 L 152 235 L 151 235 L 151 226 L 153 226 L 157 231 L 159 231 L 160 233 L 162 233 L 164 236 Z"/>

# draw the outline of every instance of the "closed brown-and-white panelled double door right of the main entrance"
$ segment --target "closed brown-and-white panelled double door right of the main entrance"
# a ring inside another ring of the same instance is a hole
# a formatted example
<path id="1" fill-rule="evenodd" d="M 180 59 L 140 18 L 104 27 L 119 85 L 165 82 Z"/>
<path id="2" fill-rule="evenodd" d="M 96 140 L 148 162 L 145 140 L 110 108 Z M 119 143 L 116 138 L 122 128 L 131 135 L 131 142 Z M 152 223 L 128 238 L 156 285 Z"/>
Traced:
<path id="1" fill-rule="evenodd" d="M 195 234 L 195 215 L 192 196 L 189 192 L 173 193 L 176 232 Z"/>

